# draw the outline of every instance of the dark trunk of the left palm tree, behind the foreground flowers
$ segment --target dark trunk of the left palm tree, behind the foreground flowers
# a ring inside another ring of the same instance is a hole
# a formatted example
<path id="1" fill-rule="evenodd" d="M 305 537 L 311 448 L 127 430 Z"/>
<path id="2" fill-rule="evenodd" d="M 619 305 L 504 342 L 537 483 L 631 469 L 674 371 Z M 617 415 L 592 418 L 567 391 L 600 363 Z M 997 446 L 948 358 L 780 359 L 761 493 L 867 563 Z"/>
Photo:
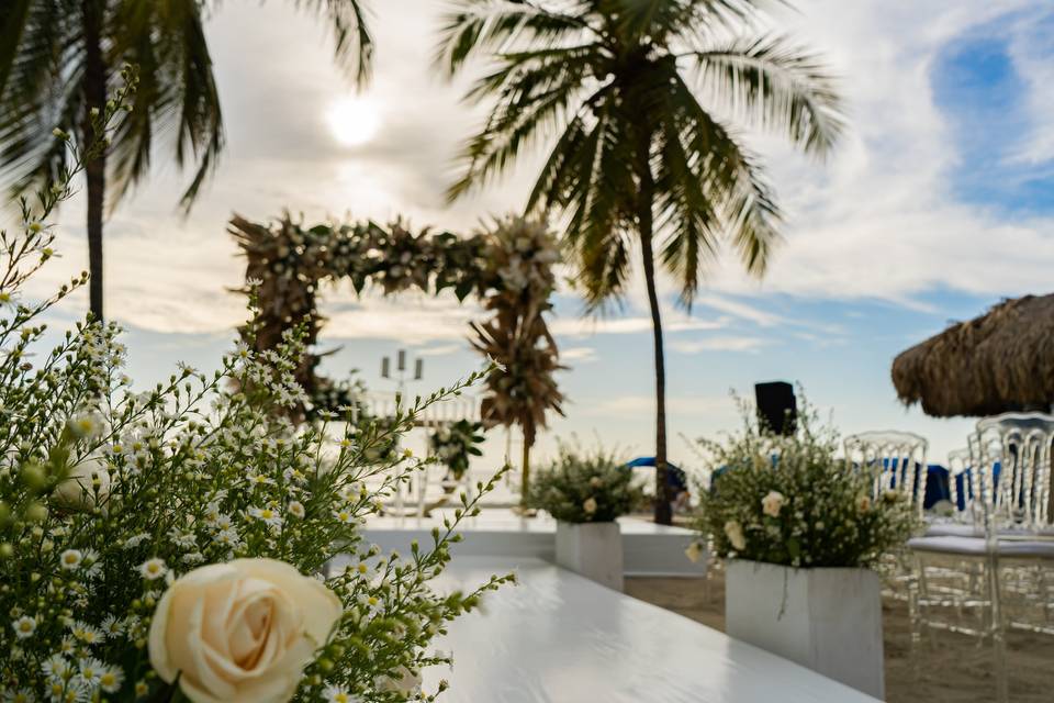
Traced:
<path id="1" fill-rule="evenodd" d="M 81 144 L 91 144 L 97 136 L 92 127 L 92 110 L 102 114 L 106 105 L 106 66 L 102 56 L 103 3 L 82 0 L 85 31 L 85 118 Z M 85 166 L 88 191 L 88 282 L 92 316 L 102 322 L 102 213 L 106 193 L 106 155 L 100 152 Z"/>

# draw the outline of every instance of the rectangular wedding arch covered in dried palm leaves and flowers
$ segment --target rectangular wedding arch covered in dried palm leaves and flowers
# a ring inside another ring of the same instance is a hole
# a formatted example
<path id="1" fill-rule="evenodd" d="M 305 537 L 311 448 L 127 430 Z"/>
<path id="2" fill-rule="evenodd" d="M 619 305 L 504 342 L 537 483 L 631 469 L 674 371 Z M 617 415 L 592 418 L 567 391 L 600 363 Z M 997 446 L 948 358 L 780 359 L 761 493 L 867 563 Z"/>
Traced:
<path id="1" fill-rule="evenodd" d="M 246 280 L 254 281 L 242 292 L 257 298 L 257 352 L 273 349 L 302 322 L 309 348 L 315 347 L 326 322 L 317 308 L 325 282 L 347 280 L 359 294 L 372 287 L 385 295 L 448 289 L 459 301 L 474 295 L 487 316 L 470 323 L 472 346 L 497 362 L 485 379 L 481 419 L 523 431 L 526 495 L 530 447 L 548 413 L 562 414 L 563 402 L 553 377 L 562 368 L 559 350 L 546 322 L 559 249 L 545 223 L 508 217 L 459 236 L 427 227 L 415 233 L 402 221 L 305 225 L 285 213 L 266 223 L 235 215 L 228 232 L 246 256 Z M 307 394 L 298 420 L 354 403 L 355 387 L 319 376 L 319 360 L 312 354 L 295 371 Z"/>

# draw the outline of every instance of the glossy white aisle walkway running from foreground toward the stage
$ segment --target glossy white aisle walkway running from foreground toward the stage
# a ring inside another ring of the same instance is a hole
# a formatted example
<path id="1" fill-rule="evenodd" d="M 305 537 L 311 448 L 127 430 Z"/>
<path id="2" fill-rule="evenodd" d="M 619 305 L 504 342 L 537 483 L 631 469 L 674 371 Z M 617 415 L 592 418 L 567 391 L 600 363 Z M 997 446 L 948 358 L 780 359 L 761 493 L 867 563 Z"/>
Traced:
<path id="1" fill-rule="evenodd" d="M 448 703 L 874 703 L 837 681 L 532 558 L 456 558 L 440 591 L 515 570 L 436 646 Z"/>

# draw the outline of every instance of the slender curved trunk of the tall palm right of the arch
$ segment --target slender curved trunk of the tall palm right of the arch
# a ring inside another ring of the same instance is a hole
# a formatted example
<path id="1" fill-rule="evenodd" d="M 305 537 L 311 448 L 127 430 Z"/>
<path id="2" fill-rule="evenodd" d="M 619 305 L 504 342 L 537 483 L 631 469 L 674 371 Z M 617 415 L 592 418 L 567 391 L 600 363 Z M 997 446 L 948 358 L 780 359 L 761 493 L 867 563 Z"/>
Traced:
<path id="1" fill-rule="evenodd" d="M 648 286 L 648 304 L 651 306 L 651 325 L 655 352 L 655 522 L 669 525 L 673 522 L 670 507 L 670 489 L 666 483 L 666 365 L 662 348 L 662 314 L 659 311 L 659 293 L 655 291 L 654 237 L 654 179 L 651 175 L 651 137 L 641 140 L 639 149 L 640 199 L 637 208 L 637 224 L 640 228 L 640 252 Z"/>

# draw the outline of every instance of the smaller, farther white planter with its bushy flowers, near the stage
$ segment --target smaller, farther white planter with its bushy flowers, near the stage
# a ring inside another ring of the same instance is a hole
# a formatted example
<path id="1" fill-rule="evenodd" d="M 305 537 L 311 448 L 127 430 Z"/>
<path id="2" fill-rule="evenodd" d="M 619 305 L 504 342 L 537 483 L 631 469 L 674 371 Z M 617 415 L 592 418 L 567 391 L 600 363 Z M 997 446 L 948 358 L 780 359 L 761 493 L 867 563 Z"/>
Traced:
<path id="1" fill-rule="evenodd" d="M 561 446 L 530 488 L 528 504 L 557 518 L 557 563 L 623 589 L 620 515 L 640 504 L 632 470 L 603 450 Z"/>

